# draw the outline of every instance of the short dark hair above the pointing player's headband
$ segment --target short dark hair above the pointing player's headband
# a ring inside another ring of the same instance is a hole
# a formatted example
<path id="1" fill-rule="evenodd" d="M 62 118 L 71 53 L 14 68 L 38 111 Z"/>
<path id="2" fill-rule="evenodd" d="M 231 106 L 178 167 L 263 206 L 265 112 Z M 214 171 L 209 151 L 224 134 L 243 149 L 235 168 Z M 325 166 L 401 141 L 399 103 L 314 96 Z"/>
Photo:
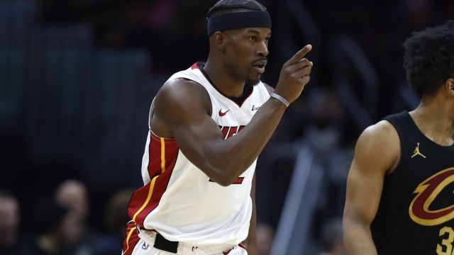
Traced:
<path id="1" fill-rule="evenodd" d="M 221 0 L 210 8 L 207 18 L 241 11 L 266 11 L 267 8 L 255 0 Z"/>

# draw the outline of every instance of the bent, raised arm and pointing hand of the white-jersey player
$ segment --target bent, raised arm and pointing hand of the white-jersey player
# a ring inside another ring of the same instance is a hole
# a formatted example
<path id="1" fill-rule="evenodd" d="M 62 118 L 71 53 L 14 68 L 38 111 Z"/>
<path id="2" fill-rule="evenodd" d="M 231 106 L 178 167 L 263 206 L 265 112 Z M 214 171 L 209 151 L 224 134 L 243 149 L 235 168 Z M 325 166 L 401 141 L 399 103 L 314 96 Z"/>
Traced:
<path id="1" fill-rule="evenodd" d="M 301 60 L 311 47 L 282 67 L 276 93 L 294 101 L 309 82 L 312 63 Z M 301 60 L 301 61 L 300 61 Z M 271 98 L 241 132 L 223 140 L 218 125 L 207 114 L 209 96 L 194 81 L 167 82 L 155 98 L 151 129 L 162 137 L 175 137 L 192 164 L 222 186 L 230 185 L 257 159 L 285 111 L 284 103 Z"/>

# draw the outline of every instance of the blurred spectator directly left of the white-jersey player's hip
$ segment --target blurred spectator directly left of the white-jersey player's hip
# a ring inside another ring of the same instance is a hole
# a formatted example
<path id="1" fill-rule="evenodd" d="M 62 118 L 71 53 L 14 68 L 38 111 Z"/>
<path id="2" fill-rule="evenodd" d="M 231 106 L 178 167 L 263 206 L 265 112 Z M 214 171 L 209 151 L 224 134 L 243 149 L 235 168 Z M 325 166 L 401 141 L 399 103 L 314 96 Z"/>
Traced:
<path id="1" fill-rule="evenodd" d="M 101 238 L 94 248 L 94 255 L 118 254 L 123 249 L 126 237 L 126 224 L 131 220 L 128 216 L 128 203 L 133 196 L 132 190 L 118 191 L 107 202 L 104 212 L 104 224 L 109 234 Z"/>

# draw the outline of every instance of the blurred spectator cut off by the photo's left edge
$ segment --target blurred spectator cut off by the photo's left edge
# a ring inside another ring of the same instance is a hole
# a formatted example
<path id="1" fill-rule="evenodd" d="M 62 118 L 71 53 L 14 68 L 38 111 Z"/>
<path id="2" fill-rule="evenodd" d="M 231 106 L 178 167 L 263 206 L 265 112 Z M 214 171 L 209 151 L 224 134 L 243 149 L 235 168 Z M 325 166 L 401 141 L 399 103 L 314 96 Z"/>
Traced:
<path id="1" fill-rule="evenodd" d="M 18 247 L 19 204 L 9 191 L 0 191 L 0 254 L 14 254 Z"/>

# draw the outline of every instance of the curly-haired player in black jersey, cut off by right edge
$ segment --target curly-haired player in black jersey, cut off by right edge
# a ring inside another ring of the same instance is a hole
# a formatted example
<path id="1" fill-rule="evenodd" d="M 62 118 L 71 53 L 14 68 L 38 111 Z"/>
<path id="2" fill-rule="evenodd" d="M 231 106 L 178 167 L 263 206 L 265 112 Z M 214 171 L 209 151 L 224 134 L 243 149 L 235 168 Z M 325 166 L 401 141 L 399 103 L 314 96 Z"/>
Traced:
<path id="1" fill-rule="evenodd" d="M 356 254 L 453 254 L 454 22 L 404 43 L 416 110 L 367 128 L 348 174 L 344 240 Z"/>

